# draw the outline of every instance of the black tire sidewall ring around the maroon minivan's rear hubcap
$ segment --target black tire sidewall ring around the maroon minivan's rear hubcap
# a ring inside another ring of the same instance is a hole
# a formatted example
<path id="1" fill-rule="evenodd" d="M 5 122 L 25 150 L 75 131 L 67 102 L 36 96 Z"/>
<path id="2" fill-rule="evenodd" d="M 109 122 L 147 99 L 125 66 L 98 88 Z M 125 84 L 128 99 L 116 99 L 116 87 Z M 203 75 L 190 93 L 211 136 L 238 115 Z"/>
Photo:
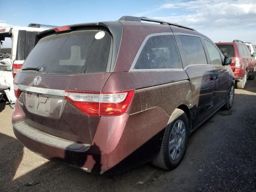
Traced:
<path id="1" fill-rule="evenodd" d="M 172 127 L 174 126 L 174 124 L 177 122 L 177 120 L 182 120 L 185 124 L 185 128 L 186 128 L 186 137 L 185 137 L 185 143 L 184 143 L 184 149 L 182 150 L 182 154 L 179 156 L 178 159 L 176 160 L 172 160 L 170 158 L 170 154 L 169 154 L 169 138 L 170 138 L 170 134 L 172 131 Z M 166 127 L 166 134 L 164 135 L 165 138 L 165 162 L 166 162 L 166 166 L 171 170 L 176 168 L 180 162 L 182 161 L 182 158 L 184 157 L 185 151 L 186 151 L 186 147 L 188 144 L 188 135 L 189 135 L 189 125 L 188 125 L 188 119 L 187 116 L 184 112 L 178 112 L 175 116 L 172 117 L 172 119 L 170 119 L 168 126 Z"/>

